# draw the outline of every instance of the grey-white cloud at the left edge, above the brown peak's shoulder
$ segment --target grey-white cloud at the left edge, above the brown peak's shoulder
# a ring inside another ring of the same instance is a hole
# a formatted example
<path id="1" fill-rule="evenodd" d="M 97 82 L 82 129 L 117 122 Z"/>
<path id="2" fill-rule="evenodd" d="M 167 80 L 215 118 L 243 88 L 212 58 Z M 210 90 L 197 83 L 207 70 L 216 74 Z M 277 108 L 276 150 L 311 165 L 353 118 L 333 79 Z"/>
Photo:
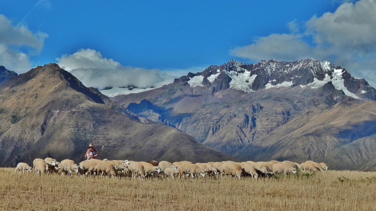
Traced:
<path id="1" fill-rule="evenodd" d="M 21 24 L 13 26 L 0 14 L 0 65 L 16 72 L 28 71 L 31 67 L 29 55 L 38 54 L 47 37 L 46 33 L 33 33 Z M 22 52 L 20 47 L 29 48 L 29 52 Z"/>

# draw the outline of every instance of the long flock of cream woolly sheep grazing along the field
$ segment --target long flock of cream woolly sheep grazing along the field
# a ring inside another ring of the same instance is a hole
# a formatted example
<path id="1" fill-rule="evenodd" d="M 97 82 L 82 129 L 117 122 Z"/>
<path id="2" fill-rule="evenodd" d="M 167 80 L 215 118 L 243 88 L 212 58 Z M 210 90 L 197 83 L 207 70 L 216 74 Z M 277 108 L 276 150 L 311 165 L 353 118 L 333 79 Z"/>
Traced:
<path id="1" fill-rule="evenodd" d="M 191 176 L 192 179 L 201 175 L 217 177 L 218 175 L 229 175 L 237 178 L 250 176 L 258 178 L 259 176 L 273 176 L 274 174 L 290 172 L 296 173 L 300 169 L 303 172 L 323 172 L 327 170 L 325 163 L 316 163 L 314 161 L 306 161 L 302 164 L 291 161 L 222 161 L 222 162 L 208 162 L 195 163 L 190 161 L 180 161 L 170 163 L 168 161 L 128 161 L 128 160 L 85 160 L 76 164 L 73 160 L 65 159 L 61 162 L 53 158 L 36 158 L 33 161 L 33 167 L 26 163 L 18 163 L 15 172 L 21 171 L 24 173 L 33 172 L 36 175 L 44 173 L 58 173 L 62 175 L 68 174 L 72 176 L 72 172 L 76 172 L 78 176 L 81 175 L 109 175 L 109 176 L 130 176 L 132 178 L 150 178 L 158 175 L 175 178 L 184 176 Z"/>

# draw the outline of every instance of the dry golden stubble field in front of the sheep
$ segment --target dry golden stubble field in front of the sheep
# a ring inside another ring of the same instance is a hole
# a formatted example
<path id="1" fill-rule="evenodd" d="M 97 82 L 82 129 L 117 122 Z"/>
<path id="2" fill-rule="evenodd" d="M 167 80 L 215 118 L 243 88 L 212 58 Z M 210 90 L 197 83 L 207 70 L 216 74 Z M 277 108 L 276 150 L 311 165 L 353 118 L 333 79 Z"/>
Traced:
<path id="1" fill-rule="evenodd" d="M 0 168 L 0 209 L 372 210 L 376 172 L 278 178 L 140 179 L 18 175 Z"/>

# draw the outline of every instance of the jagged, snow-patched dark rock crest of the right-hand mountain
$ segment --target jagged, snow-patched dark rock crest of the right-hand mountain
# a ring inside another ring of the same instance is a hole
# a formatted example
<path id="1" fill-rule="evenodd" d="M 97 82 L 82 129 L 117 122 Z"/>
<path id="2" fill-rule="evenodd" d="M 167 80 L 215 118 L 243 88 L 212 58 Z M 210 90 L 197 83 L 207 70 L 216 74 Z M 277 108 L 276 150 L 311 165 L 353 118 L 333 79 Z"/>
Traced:
<path id="1" fill-rule="evenodd" d="M 255 92 L 294 86 L 317 89 L 331 81 L 335 89 L 342 90 L 347 96 L 376 100 L 375 89 L 364 79 L 352 77 L 340 66 L 314 59 L 295 62 L 270 59 L 250 65 L 232 59 L 226 64 L 212 65 L 202 72 L 176 78 L 174 83 L 184 81 L 191 87 L 213 87 L 213 92 L 228 88 Z"/>

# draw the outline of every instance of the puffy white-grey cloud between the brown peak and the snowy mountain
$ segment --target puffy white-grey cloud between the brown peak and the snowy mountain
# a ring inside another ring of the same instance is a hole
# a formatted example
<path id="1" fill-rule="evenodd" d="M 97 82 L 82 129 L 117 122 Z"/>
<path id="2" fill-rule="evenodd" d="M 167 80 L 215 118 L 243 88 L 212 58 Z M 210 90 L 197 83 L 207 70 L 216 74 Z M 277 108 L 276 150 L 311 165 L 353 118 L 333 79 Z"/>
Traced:
<path id="1" fill-rule="evenodd" d="M 98 89 L 109 86 L 159 87 L 172 83 L 174 78 L 180 76 L 171 70 L 123 66 L 113 59 L 103 57 L 99 51 L 89 48 L 62 55 L 56 60 L 61 68 L 70 71 L 85 86 Z"/>

